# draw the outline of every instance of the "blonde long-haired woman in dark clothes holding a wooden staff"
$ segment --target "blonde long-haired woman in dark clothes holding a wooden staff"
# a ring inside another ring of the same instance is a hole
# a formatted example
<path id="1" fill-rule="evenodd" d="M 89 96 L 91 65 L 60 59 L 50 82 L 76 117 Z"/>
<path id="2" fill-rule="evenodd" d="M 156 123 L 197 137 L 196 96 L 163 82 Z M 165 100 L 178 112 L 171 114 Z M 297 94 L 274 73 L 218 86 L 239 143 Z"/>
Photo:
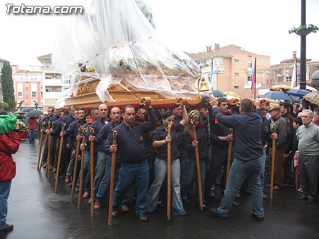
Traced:
<path id="1" fill-rule="evenodd" d="M 188 120 L 185 125 L 185 130 L 183 134 L 183 142 L 185 149 L 187 151 L 187 160 L 186 160 L 186 172 L 185 179 L 181 185 L 181 195 L 183 195 L 191 184 L 192 175 L 195 172 L 197 175 L 196 169 L 196 156 L 195 156 L 195 147 L 198 147 L 198 156 L 199 156 L 199 165 L 200 165 L 200 178 L 201 178 L 201 191 L 203 198 L 203 209 L 207 210 L 205 206 L 204 199 L 204 182 L 205 182 L 205 158 L 207 158 L 207 127 L 205 124 L 200 122 L 201 116 L 199 111 L 191 111 L 188 114 Z M 193 124 L 192 124 L 192 122 Z M 194 140 L 193 125 L 195 126 L 197 140 Z M 197 176 L 196 176 L 197 179 Z M 197 198 L 196 202 L 199 205 L 199 195 L 197 188 Z"/>

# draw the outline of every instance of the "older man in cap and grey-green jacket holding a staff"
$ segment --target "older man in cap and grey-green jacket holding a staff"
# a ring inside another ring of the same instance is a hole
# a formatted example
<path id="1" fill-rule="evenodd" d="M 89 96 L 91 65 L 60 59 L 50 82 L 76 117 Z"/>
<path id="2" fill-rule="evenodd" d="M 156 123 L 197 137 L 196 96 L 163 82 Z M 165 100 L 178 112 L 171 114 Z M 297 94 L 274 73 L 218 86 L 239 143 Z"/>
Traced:
<path id="1" fill-rule="evenodd" d="M 269 146 L 269 156 L 270 163 L 272 160 L 275 160 L 274 166 L 274 190 L 284 190 L 284 153 L 286 148 L 286 138 L 287 138 L 287 122 L 281 116 L 281 109 L 279 106 L 273 106 L 269 110 L 271 116 L 271 132 L 272 134 L 268 136 L 267 142 Z M 273 125 L 276 125 L 276 132 L 274 132 Z M 276 140 L 275 149 L 273 146 L 273 139 Z M 275 158 L 272 158 L 273 150 L 275 150 Z M 268 184 L 266 187 L 270 187 Z"/>

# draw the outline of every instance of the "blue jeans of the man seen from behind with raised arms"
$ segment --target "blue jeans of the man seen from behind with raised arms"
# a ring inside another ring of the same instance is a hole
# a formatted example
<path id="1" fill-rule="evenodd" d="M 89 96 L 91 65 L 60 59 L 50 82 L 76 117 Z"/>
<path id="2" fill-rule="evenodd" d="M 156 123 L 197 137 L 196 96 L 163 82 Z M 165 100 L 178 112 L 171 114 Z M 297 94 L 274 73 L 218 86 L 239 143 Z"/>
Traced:
<path id="1" fill-rule="evenodd" d="M 243 161 L 236 158 L 234 159 L 230 168 L 228 184 L 225 189 L 224 197 L 217 209 L 221 215 L 227 217 L 236 193 L 247 178 L 251 189 L 253 213 L 259 218 L 264 217 L 263 192 L 260 185 L 261 167 L 262 156 L 249 161 Z"/>

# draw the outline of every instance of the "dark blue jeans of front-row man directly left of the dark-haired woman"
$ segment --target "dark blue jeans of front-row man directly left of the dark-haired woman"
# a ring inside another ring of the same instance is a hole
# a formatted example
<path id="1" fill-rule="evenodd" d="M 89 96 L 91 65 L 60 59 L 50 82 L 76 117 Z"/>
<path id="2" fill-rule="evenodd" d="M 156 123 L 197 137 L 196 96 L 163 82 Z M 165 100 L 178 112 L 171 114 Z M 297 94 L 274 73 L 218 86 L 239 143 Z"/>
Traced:
<path id="1" fill-rule="evenodd" d="M 148 160 L 146 159 L 139 164 L 122 162 L 119 183 L 114 191 L 113 207 L 119 208 L 121 206 L 134 179 L 138 194 L 135 204 L 136 213 L 145 213 L 146 211 L 144 208 L 146 206 L 149 187 L 149 165 Z"/>

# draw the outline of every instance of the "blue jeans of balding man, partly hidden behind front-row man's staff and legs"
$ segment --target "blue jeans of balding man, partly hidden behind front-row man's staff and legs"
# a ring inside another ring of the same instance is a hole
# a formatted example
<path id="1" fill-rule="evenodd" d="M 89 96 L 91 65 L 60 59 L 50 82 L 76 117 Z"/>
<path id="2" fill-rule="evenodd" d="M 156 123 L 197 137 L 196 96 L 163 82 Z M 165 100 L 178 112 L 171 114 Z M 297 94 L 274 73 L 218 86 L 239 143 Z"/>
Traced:
<path id="1" fill-rule="evenodd" d="M 120 167 L 121 167 L 121 160 L 119 158 L 119 155 L 116 154 L 114 174 Z M 97 192 L 96 197 L 95 197 L 95 200 L 99 203 L 101 203 L 103 201 L 104 195 L 107 193 L 107 191 L 110 190 L 111 170 L 112 170 L 112 155 L 109 155 L 108 160 L 106 162 L 104 177 L 101 180 L 101 183 L 99 186 L 99 191 Z M 114 185 L 115 186 L 117 185 L 115 177 L 114 177 Z M 121 206 L 123 206 L 123 205 L 128 206 L 128 201 L 129 201 L 129 191 L 127 191 L 127 194 L 125 195 Z"/>

